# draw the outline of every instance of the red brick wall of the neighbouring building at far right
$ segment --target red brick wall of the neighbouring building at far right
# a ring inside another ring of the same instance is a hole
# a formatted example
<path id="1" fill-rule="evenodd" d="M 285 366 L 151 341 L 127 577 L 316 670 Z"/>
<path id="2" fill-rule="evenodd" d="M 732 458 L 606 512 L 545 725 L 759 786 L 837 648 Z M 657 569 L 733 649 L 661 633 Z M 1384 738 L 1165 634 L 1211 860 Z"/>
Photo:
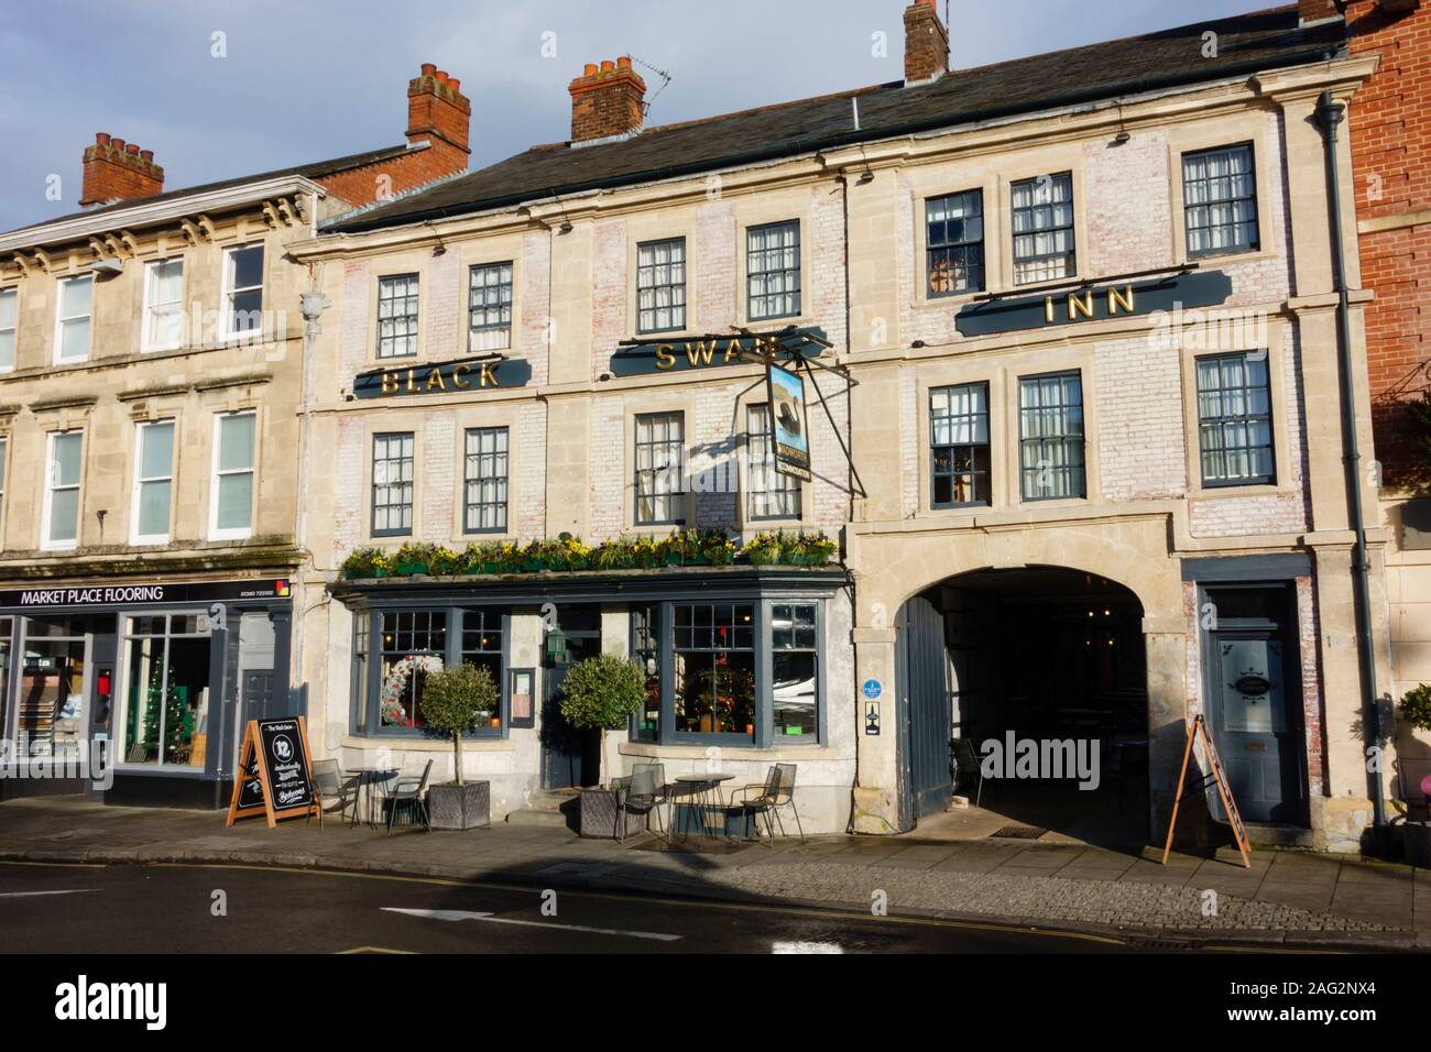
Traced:
<path id="1" fill-rule="evenodd" d="M 1352 0 L 1347 20 L 1352 52 L 1381 56 L 1375 76 L 1351 104 L 1357 219 L 1425 212 L 1431 209 L 1431 4 L 1422 0 L 1397 17 L 1375 0 Z M 1410 457 L 1404 399 L 1425 385 L 1414 374 L 1425 366 L 1431 346 L 1431 222 L 1364 232 L 1359 246 L 1362 283 L 1377 293 L 1367 308 L 1377 459 L 1385 479 L 1395 482 Z"/>

